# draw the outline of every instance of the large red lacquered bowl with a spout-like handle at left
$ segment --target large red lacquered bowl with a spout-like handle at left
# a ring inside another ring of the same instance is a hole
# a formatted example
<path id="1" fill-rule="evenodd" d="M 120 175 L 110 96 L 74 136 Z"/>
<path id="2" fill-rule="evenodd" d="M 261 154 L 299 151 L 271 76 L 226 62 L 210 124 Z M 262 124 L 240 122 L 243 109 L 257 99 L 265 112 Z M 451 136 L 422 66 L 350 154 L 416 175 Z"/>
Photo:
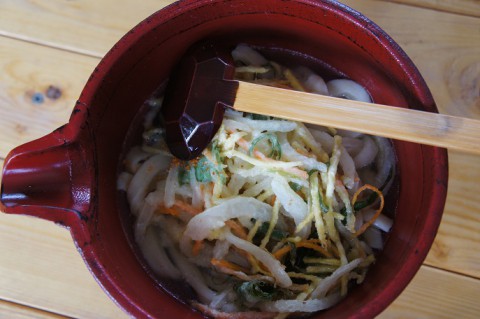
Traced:
<path id="1" fill-rule="evenodd" d="M 4 212 L 68 227 L 99 284 L 138 318 L 202 316 L 166 293 L 143 264 L 116 178 L 122 152 L 133 143 L 129 131 L 142 103 L 166 81 L 186 49 L 206 38 L 302 52 L 361 83 L 377 103 L 437 111 L 399 46 L 337 2 L 188 0 L 141 22 L 94 70 L 70 122 L 10 153 L 1 193 Z M 407 286 L 433 242 L 446 198 L 446 151 L 394 144 L 399 187 L 384 252 L 361 286 L 316 318 L 379 314 Z"/>

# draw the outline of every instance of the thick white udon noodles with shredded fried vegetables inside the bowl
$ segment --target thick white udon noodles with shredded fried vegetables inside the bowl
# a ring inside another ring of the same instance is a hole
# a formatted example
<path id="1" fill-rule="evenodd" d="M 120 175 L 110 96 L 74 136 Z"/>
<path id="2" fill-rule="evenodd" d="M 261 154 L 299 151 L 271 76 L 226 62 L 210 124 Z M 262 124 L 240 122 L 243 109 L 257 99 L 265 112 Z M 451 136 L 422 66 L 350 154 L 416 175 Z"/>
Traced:
<path id="1" fill-rule="evenodd" d="M 371 101 L 351 80 L 325 83 L 246 45 L 232 56 L 242 80 Z M 329 308 L 364 280 L 392 226 L 382 214 L 395 169 L 388 140 L 226 110 L 208 148 L 182 162 L 153 124 L 153 102 L 118 188 L 146 261 L 188 283 L 197 309 L 285 318 Z"/>

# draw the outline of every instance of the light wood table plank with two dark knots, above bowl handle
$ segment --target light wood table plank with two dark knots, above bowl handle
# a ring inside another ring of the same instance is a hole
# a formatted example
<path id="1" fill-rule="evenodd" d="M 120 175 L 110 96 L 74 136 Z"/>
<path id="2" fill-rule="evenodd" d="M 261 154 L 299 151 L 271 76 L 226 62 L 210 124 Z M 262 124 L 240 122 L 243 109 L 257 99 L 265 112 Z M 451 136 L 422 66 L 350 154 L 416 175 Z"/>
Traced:
<path id="1" fill-rule="evenodd" d="M 0 157 L 66 123 L 98 62 L 0 37 Z"/>

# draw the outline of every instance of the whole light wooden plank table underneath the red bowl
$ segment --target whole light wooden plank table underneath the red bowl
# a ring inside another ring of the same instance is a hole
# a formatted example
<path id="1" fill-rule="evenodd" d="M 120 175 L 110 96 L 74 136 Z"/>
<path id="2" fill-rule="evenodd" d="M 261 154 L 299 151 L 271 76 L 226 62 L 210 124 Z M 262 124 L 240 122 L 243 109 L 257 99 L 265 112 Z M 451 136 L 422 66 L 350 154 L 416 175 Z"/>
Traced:
<path id="1" fill-rule="evenodd" d="M 170 2 L 1 0 L 0 161 L 16 145 L 65 123 L 100 58 Z M 403 47 L 440 112 L 480 119 L 478 0 L 345 3 Z M 414 280 L 381 318 L 480 317 L 480 158 L 449 152 L 449 159 L 438 236 Z M 97 285 L 66 229 L 0 214 L 0 317 L 127 316 Z"/>

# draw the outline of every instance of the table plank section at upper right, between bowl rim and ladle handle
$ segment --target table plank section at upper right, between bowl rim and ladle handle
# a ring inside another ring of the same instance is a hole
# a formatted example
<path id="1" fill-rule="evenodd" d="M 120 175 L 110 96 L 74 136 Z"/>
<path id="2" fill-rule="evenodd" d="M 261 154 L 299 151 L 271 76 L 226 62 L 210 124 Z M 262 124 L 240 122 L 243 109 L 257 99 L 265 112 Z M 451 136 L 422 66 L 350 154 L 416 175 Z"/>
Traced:
<path id="1" fill-rule="evenodd" d="M 480 118 L 480 19 L 384 1 L 342 1 L 384 29 L 425 78 L 441 113 Z"/>

